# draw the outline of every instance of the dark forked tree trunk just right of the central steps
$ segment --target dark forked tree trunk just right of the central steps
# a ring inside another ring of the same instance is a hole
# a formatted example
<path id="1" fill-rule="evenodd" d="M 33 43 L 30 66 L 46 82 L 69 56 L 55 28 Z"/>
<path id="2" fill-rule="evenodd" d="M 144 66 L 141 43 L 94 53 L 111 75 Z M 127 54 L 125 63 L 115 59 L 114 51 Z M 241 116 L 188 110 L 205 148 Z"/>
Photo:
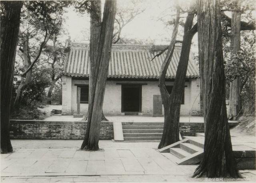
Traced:
<path id="1" fill-rule="evenodd" d="M 184 26 L 184 36 L 182 41 L 182 49 L 180 53 L 180 61 L 178 63 L 178 68 L 176 71 L 176 77 L 174 81 L 174 86 L 172 88 L 172 93 L 168 96 L 165 89 L 165 75 L 166 71 L 169 67 L 170 60 L 172 59 L 172 54 L 170 57 L 166 57 L 169 62 L 165 62 L 165 65 L 162 66 L 161 76 L 159 80 L 160 92 L 164 103 L 164 130 L 160 144 L 158 145 L 158 149 L 178 142 L 179 139 L 179 122 L 180 122 L 180 104 L 182 101 L 182 93 L 184 92 L 184 84 L 186 79 L 186 72 L 188 68 L 188 60 L 189 53 L 191 47 L 191 41 L 196 33 L 196 27 L 193 27 L 193 19 L 194 19 L 194 10 L 191 8 L 188 16 L 186 18 L 185 26 Z M 179 14 L 179 13 L 178 13 Z M 177 14 L 177 17 L 178 17 Z M 173 40 L 173 38 L 172 38 Z M 175 41 L 175 38 L 174 38 Z M 163 72 L 163 73 L 162 73 Z M 166 101 L 167 100 L 167 101 Z"/>

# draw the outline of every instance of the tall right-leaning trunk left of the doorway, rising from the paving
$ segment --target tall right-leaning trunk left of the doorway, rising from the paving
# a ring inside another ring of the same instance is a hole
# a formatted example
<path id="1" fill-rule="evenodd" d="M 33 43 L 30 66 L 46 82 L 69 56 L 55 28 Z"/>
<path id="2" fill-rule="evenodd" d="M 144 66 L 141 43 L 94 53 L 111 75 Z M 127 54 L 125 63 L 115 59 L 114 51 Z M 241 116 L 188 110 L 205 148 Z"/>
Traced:
<path id="1" fill-rule="evenodd" d="M 99 2 L 96 2 L 96 4 Z M 100 4 L 96 5 L 97 7 Z M 99 7 L 96 8 L 99 10 Z M 92 10 L 91 10 L 92 11 Z M 98 11 L 97 11 L 98 12 Z M 86 129 L 86 135 L 84 138 L 84 142 L 82 143 L 81 149 L 88 150 L 98 150 L 98 142 L 100 138 L 100 122 L 102 119 L 102 106 L 104 100 L 104 93 L 106 87 L 106 79 L 108 74 L 108 65 L 111 55 L 111 46 L 112 46 L 112 35 L 114 30 L 114 18 L 116 14 L 116 1 L 107 0 L 104 6 L 104 14 L 103 20 L 100 27 L 100 36 L 98 47 L 92 45 L 94 49 L 97 49 L 97 52 L 94 52 L 94 56 L 96 57 L 96 64 L 94 65 L 96 71 L 98 71 L 98 75 L 96 76 L 95 83 L 91 83 L 92 79 L 90 79 L 90 85 L 95 85 L 95 91 L 92 94 L 89 94 L 91 108 L 88 114 L 88 126 Z M 91 30 L 92 31 L 92 30 Z M 90 56 L 91 54 L 91 42 L 90 40 Z M 96 39 L 97 41 L 97 39 Z M 91 76 L 91 72 L 90 72 Z M 90 77 L 91 78 L 91 77 Z"/>

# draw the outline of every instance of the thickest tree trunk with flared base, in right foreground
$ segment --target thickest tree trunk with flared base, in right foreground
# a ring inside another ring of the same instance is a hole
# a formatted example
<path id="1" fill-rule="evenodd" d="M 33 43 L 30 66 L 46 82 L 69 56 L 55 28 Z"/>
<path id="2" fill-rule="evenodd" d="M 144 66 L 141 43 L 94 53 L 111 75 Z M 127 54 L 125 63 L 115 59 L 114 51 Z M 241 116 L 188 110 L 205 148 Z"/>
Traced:
<path id="1" fill-rule="evenodd" d="M 220 0 L 198 4 L 198 50 L 206 132 L 204 156 L 193 177 L 241 177 L 232 151 L 225 102 Z"/>

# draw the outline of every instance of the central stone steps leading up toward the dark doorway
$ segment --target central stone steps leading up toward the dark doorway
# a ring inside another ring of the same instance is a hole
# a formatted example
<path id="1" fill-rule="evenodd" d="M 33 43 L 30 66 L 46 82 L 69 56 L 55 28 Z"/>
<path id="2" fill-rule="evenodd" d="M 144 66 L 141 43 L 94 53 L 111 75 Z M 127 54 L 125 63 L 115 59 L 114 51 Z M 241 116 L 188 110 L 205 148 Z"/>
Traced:
<path id="1" fill-rule="evenodd" d="M 162 122 L 122 122 L 124 141 L 158 142 L 163 133 Z"/>

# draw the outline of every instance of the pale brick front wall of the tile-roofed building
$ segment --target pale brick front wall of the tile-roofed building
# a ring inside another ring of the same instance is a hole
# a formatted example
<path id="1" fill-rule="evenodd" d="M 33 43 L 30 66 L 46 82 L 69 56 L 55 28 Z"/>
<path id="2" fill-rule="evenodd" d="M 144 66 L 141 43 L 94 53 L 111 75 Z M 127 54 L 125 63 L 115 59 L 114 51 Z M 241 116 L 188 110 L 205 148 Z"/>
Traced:
<path id="1" fill-rule="evenodd" d="M 66 77 L 66 79 L 67 81 L 71 80 L 70 77 Z M 180 114 L 182 116 L 189 115 L 191 109 L 200 110 L 200 96 L 198 95 L 200 92 L 200 79 L 198 80 L 199 83 L 196 79 L 192 79 L 190 80 L 190 82 L 185 83 L 187 87 L 185 87 L 184 89 L 184 104 L 182 104 L 180 108 Z M 142 114 L 153 114 L 153 95 L 160 94 L 158 81 L 106 81 L 106 91 L 103 102 L 104 114 L 121 115 L 121 85 L 116 85 L 116 83 L 147 83 L 147 85 L 142 85 Z M 174 82 L 166 82 L 166 85 L 173 85 L 173 83 Z M 69 84 L 67 85 L 67 89 L 62 91 L 62 113 L 76 113 L 77 87 L 75 86 L 75 84 L 88 85 L 88 80 L 72 80 L 72 84 L 71 81 L 69 82 Z M 70 86 L 72 90 L 68 89 L 68 86 Z M 194 105 L 192 105 L 193 102 Z M 70 107 L 68 107 L 68 105 L 70 105 Z M 88 110 L 88 104 L 80 104 L 80 110 L 82 114 L 86 114 Z"/>

